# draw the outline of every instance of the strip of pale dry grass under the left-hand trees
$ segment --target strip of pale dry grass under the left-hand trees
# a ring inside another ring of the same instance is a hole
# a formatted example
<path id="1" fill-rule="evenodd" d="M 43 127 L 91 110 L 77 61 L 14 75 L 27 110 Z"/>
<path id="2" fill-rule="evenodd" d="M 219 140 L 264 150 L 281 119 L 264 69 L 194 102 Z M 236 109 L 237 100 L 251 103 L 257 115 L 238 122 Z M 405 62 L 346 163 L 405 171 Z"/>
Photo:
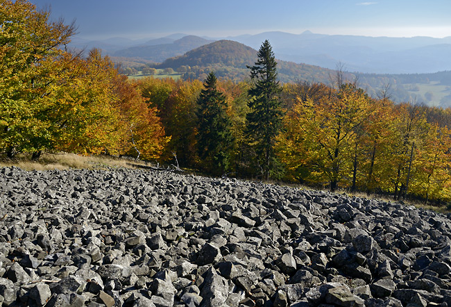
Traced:
<path id="1" fill-rule="evenodd" d="M 31 161 L 29 155 L 20 154 L 14 159 L 0 158 L 0 167 L 17 166 L 24 170 L 49 170 L 49 169 L 105 169 L 107 167 L 128 167 L 139 164 L 128 159 L 119 159 L 108 156 L 80 156 L 77 154 L 42 154 L 39 161 Z"/>

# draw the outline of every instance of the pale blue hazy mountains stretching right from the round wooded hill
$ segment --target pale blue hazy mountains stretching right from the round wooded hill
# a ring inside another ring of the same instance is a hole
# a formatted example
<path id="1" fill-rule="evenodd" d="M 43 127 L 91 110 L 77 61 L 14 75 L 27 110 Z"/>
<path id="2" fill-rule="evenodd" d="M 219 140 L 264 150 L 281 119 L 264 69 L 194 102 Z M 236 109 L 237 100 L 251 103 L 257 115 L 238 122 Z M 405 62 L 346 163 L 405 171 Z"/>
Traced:
<path id="1" fill-rule="evenodd" d="M 282 60 L 334 69 L 342 63 L 351 72 L 415 74 L 451 70 L 451 37 L 387 38 L 266 32 L 229 38 L 257 49 L 269 40 Z M 448 56 L 447 56 L 448 54 Z"/>

